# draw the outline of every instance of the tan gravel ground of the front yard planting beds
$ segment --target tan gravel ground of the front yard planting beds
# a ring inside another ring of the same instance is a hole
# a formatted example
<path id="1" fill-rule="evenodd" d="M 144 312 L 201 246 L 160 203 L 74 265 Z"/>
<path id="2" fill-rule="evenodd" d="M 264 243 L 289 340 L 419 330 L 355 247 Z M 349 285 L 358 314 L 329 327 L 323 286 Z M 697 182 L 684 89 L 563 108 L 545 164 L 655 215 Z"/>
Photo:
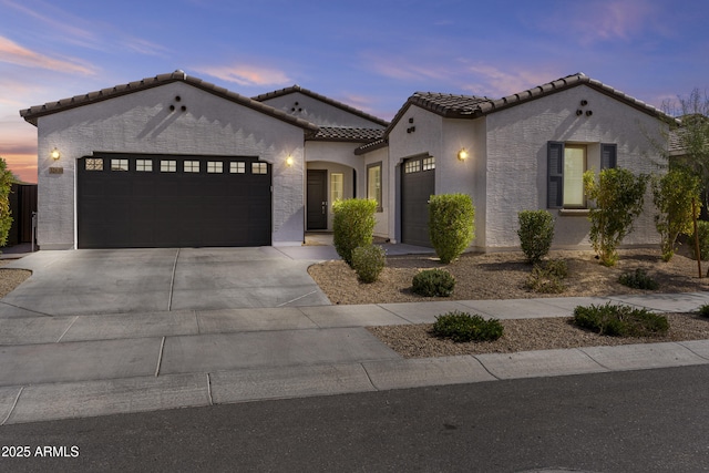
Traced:
<path id="1" fill-rule="evenodd" d="M 442 265 L 433 255 L 388 258 L 380 279 L 361 284 L 342 261 L 327 261 L 309 268 L 332 304 L 425 302 L 431 300 L 523 299 L 540 297 L 612 296 L 624 294 L 691 292 L 709 290 L 709 278 L 699 278 L 697 261 L 676 255 L 669 263 L 655 248 L 621 250 L 614 268 L 598 264 L 593 251 L 552 251 L 568 265 L 566 289 L 562 294 L 540 294 L 524 282 L 532 267 L 522 253 L 466 254 L 451 265 Z M 707 263 L 702 263 L 702 273 Z M 449 270 L 456 279 L 450 298 L 424 298 L 411 291 L 413 276 L 429 268 Z M 658 284 L 655 291 L 631 289 L 618 277 L 644 268 Z M 571 318 L 502 320 L 504 336 L 493 342 L 454 343 L 429 333 L 430 323 L 368 327 L 368 330 L 407 358 L 448 357 L 491 352 L 515 352 L 627 343 L 709 339 L 709 319 L 692 313 L 669 313 L 670 332 L 657 338 L 618 338 L 574 327 Z"/>

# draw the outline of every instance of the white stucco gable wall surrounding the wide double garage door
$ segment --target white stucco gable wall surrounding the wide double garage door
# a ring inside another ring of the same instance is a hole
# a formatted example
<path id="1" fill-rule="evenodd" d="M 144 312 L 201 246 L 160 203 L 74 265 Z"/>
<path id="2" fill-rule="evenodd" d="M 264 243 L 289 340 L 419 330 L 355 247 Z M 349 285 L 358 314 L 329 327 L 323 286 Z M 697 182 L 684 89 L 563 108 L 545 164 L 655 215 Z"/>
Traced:
<path id="1" fill-rule="evenodd" d="M 274 244 L 302 240 L 304 132 L 261 112 L 176 82 L 40 117 L 38 135 L 44 248 L 75 246 L 74 166 L 94 151 L 258 156 L 273 164 Z M 49 162 L 53 147 L 62 153 L 55 164 Z M 50 165 L 64 174 L 50 175 Z"/>

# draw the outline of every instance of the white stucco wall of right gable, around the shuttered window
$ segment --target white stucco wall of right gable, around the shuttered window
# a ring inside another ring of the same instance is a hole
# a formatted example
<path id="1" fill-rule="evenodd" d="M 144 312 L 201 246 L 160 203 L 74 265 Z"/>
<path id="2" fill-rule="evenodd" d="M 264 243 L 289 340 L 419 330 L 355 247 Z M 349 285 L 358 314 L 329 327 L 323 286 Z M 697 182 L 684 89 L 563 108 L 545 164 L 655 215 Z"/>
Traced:
<path id="1" fill-rule="evenodd" d="M 582 106 L 582 100 L 587 104 Z M 617 144 L 619 167 L 636 174 L 656 171 L 651 158 L 657 153 L 646 133 L 657 133 L 660 123 L 585 85 L 490 114 L 486 122 L 489 248 L 517 247 L 517 212 L 547 208 L 548 141 L 587 145 L 587 167 L 596 171 L 600 165 L 600 143 Z M 585 216 L 551 212 L 556 218 L 555 247 L 588 246 L 589 225 Z M 658 240 L 648 195 L 646 212 L 624 244 L 648 245 Z"/>

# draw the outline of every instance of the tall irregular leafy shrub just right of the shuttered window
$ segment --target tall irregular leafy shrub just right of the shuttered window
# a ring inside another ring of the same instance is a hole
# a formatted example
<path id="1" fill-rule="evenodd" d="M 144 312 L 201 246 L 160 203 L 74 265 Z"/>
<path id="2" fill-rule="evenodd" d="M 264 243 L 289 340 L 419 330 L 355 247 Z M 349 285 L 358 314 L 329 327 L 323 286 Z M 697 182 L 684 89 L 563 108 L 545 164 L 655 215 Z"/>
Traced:
<path id="1" fill-rule="evenodd" d="M 588 214 L 590 244 L 600 264 L 614 266 L 618 246 L 633 232 L 633 223 L 643 212 L 649 176 L 635 176 L 628 169 L 603 169 L 596 179 L 593 171 L 584 173 L 586 196 L 596 202 Z"/>

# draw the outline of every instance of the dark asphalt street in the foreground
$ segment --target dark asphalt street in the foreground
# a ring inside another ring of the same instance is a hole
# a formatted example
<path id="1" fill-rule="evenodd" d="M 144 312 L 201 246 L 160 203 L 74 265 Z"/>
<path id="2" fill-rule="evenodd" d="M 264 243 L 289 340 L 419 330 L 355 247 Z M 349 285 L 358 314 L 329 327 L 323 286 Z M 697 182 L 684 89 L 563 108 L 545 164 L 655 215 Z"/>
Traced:
<path id="1" fill-rule="evenodd" d="M 4 425 L 0 471 L 699 472 L 708 380 L 705 364 Z"/>

